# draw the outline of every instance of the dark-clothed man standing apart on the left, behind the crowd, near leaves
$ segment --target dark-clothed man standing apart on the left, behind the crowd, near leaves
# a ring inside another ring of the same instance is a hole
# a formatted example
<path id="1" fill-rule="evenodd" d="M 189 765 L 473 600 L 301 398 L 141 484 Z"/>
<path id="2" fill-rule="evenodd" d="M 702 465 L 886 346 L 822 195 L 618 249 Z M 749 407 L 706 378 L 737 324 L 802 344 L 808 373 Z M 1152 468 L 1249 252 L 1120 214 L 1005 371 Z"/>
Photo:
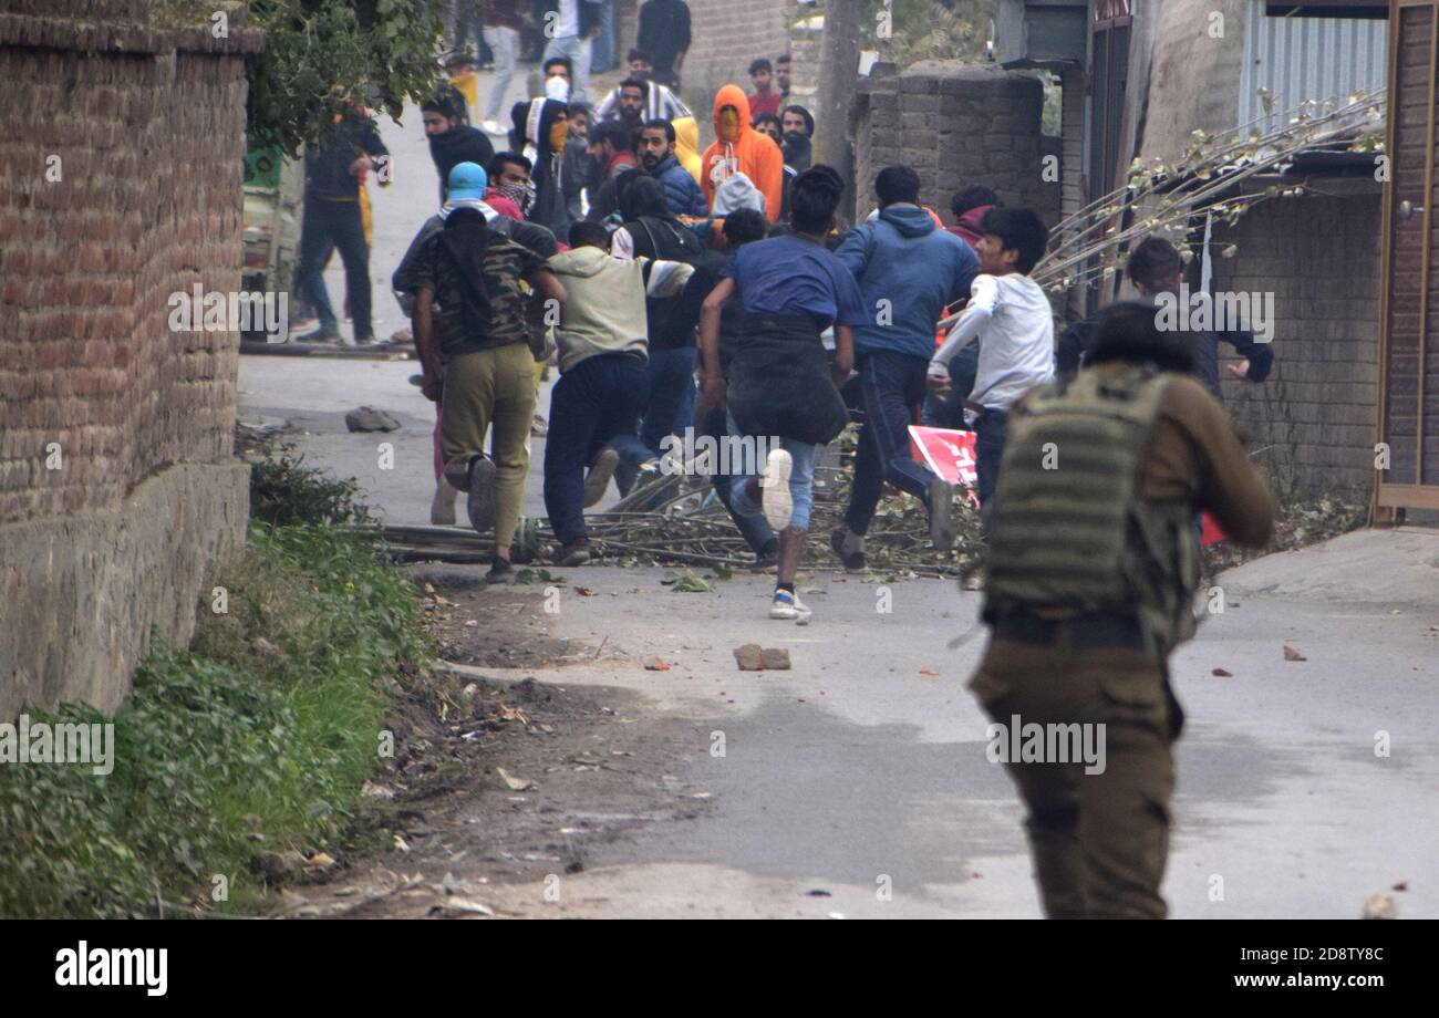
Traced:
<path id="1" fill-rule="evenodd" d="M 334 132 L 319 144 L 305 147 L 305 208 L 299 227 L 299 254 L 295 289 L 309 295 L 319 316 L 319 328 L 295 336 L 296 342 L 338 342 L 340 324 L 325 289 L 325 259 L 331 247 L 340 249 L 345 263 L 345 289 L 354 318 L 355 344 L 374 342 L 370 324 L 370 246 L 364 239 L 360 213 L 361 180 L 371 170 L 381 170 L 390 150 L 380 141 L 371 119 L 351 104 Z M 380 187 L 390 184 L 389 173 L 378 174 Z"/>

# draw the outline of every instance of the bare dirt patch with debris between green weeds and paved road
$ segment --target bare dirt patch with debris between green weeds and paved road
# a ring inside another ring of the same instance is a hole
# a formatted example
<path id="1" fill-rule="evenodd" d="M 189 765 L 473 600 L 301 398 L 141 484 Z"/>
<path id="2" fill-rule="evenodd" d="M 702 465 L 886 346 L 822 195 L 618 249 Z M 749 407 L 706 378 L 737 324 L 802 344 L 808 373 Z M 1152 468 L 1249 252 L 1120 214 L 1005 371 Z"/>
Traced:
<path id="1" fill-rule="evenodd" d="M 545 634 L 543 591 L 423 582 L 443 657 L 479 666 L 397 679 L 394 755 L 368 789 L 361 847 L 307 867 L 278 890 L 275 914 L 522 916 L 501 886 L 557 883 L 708 808 L 678 776 L 707 746 L 692 722 L 656 717 L 633 690 L 482 674 L 593 656 Z"/>

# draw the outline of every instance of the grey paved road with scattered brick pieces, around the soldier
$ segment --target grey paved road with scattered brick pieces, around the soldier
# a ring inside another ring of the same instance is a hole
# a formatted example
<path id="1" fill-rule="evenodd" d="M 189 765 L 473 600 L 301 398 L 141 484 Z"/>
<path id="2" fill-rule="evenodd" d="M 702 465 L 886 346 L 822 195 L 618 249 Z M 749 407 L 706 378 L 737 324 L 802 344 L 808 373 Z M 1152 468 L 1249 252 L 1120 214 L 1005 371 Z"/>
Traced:
<path id="1" fill-rule="evenodd" d="M 390 519 L 423 522 L 429 411 L 409 370 L 243 358 L 240 401 L 302 423 L 315 462 L 358 476 Z M 374 436 L 338 423 L 357 403 L 404 423 L 390 436 L 394 470 L 374 469 Z M 537 492 L 532 476 L 531 510 Z M 655 710 L 725 738 L 722 758 L 696 745 L 684 775 L 711 792 L 708 815 L 591 858 L 567 879 L 571 910 L 1039 914 L 1017 802 L 984 758 L 986 720 L 963 687 L 981 640 L 947 647 L 973 625 L 979 595 L 911 581 L 879 614 L 873 585 L 816 574 L 816 617 L 800 628 L 764 617 L 761 577 L 673 594 L 661 569 L 563 572 L 554 633 L 607 641 L 629 661 L 534 674 L 639 689 Z M 1173 913 L 1350 917 L 1404 880 L 1402 914 L 1439 914 L 1439 536 L 1351 535 L 1222 585 L 1225 614 L 1174 667 L 1189 728 L 1164 889 Z M 747 641 L 789 647 L 794 669 L 737 673 L 730 651 Z M 1308 660 L 1285 661 L 1285 644 Z M 675 667 L 645 671 L 649 656 Z M 1377 732 L 1389 758 L 1374 755 Z M 882 876 L 889 902 L 876 897 Z M 1210 900 L 1215 876 L 1222 902 Z"/>

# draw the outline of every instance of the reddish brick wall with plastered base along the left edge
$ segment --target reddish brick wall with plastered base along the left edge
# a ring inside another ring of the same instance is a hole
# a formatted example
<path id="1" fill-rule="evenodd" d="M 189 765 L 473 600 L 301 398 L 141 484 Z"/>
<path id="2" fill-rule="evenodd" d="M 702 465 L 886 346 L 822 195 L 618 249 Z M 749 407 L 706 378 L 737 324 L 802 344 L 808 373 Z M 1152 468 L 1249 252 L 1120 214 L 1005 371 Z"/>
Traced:
<path id="1" fill-rule="evenodd" d="M 0 0 L 0 717 L 114 709 L 245 533 L 239 336 L 171 332 L 167 302 L 240 286 L 262 40 L 243 6 L 224 39 L 151 7 Z"/>

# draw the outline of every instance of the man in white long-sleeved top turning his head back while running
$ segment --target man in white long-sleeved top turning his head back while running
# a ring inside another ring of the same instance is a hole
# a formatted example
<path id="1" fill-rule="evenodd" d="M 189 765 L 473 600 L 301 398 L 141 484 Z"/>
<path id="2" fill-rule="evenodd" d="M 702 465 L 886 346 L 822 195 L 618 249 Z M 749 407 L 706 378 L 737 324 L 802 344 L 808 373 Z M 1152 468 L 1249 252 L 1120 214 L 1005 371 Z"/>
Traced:
<path id="1" fill-rule="evenodd" d="M 1049 299 L 1029 278 L 1045 253 L 1049 230 L 1027 208 L 991 208 L 974 247 L 980 275 L 964 315 L 930 361 L 928 384 L 937 395 L 950 387 L 950 358 L 980 341 L 974 390 L 964 418 L 974 428 L 974 470 L 980 508 L 999 480 L 1009 428 L 1009 408 L 1055 377 L 1055 322 Z"/>

